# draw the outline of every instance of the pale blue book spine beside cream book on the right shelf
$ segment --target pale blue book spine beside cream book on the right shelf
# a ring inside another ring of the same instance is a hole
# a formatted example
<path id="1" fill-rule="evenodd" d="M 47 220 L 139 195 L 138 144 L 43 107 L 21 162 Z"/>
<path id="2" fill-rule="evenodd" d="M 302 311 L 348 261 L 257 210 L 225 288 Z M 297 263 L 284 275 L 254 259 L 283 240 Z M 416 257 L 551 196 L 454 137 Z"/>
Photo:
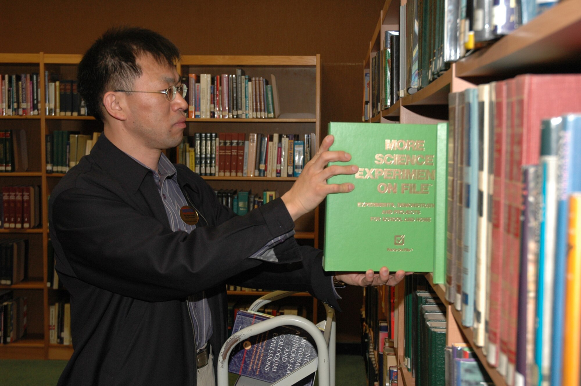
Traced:
<path id="1" fill-rule="evenodd" d="M 464 91 L 464 252 L 462 253 L 462 324 L 474 324 L 476 231 L 478 226 L 478 89 Z"/>

